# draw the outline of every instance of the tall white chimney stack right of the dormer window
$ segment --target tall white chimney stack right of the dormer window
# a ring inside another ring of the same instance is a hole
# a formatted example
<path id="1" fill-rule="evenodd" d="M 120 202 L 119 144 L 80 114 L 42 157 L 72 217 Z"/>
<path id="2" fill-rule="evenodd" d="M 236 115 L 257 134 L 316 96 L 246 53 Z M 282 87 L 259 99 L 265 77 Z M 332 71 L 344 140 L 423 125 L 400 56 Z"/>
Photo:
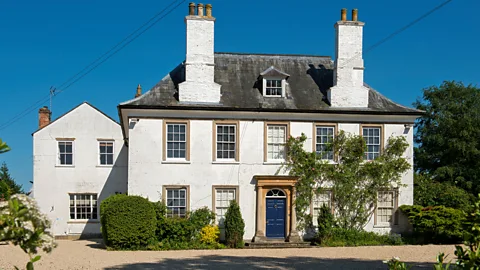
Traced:
<path id="1" fill-rule="evenodd" d="M 333 87 L 328 90 L 332 107 L 368 107 L 368 88 L 363 86 L 363 26 L 358 12 L 352 10 L 347 21 L 347 10 L 342 9 L 341 20 L 335 24 L 335 69 Z"/>

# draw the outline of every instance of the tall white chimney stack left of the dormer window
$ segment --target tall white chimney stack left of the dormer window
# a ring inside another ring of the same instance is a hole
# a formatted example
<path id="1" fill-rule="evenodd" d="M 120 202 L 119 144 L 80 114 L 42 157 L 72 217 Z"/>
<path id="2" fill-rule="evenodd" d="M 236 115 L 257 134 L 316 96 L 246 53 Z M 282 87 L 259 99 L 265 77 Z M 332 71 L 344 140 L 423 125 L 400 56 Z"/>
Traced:
<path id="1" fill-rule="evenodd" d="M 212 5 L 189 4 L 185 81 L 179 84 L 180 102 L 219 103 L 220 85 L 214 82 L 214 24 Z"/>

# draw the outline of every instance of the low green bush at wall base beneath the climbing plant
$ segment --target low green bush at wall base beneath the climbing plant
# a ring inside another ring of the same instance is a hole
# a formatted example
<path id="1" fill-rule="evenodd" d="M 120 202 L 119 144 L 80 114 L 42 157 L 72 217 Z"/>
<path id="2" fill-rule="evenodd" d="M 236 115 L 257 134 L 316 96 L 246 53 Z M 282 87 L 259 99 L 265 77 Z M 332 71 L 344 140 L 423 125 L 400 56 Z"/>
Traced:
<path id="1" fill-rule="evenodd" d="M 374 232 L 358 231 L 353 229 L 333 228 L 330 238 L 321 242 L 322 246 L 380 246 L 402 245 L 399 235 L 377 234 Z"/>

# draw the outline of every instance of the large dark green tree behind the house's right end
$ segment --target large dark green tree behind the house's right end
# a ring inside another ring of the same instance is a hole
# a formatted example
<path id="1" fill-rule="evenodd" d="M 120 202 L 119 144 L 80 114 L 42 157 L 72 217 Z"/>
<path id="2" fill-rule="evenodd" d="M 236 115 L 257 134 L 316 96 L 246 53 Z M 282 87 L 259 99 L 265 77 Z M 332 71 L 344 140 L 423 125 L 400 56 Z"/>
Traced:
<path id="1" fill-rule="evenodd" d="M 480 89 L 445 81 L 414 105 L 425 111 L 415 124 L 415 170 L 480 192 Z"/>

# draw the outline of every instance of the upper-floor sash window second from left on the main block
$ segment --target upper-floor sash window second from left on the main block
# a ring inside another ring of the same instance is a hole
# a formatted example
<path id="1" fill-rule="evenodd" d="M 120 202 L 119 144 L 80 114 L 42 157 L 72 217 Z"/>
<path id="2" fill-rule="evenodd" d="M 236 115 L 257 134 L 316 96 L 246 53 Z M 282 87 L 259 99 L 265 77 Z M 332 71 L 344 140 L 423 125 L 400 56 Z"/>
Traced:
<path id="1" fill-rule="evenodd" d="M 215 124 L 215 157 L 216 160 L 238 161 L 238 130 L 237 123 Z"/>

